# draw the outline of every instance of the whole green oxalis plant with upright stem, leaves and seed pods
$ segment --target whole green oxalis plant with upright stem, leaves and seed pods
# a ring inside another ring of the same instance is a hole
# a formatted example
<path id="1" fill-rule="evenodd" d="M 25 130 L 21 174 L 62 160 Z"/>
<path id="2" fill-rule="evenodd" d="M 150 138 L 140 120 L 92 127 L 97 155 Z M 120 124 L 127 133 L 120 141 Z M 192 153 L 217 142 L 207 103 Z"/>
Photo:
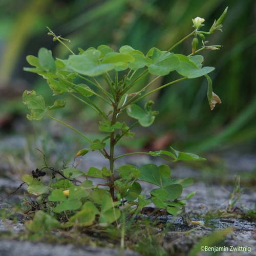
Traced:
<path id="1" fill-rule="evenodd" d="M 182 190 L 193 184 L 193 180 L 171 179 L 170 168 L 165 164 L 157 166 L 151 163 L 140 167 L 126 164 L 115 168 L 115 161 L 137 154 L 160 157 L 170 162 L 201 161 L 205 160 L 204 158 L 179 152 L 171 146 L 168 150 L 116 156 L 115 146 L 124 136 L 131 138 L 134 136 L 132 129 L 135 125 L 144 128 L 153 124 L 158 114 L 153 110 L 154 102 L 147 101 L 142 107 L 141 100 L 180 81 L 204 76 L 208 83 L 207 97 L 210 109 L 214 109 L 216 103 L 221 103 L 220 98 L 212 92 L 212 83 L 208 76 L 215 68 L 202 67 L 204 58 L 198 53 L 205 49 L 219 50 L 221 47 L 219 45 L 207 46 L 205 36 L 221 30 L 226 12 L 227 8 L 220 18 L 215 20 L 209 31 L 202 31 L 204 19 L 196 17 L 193 19 L 194 30 L 177 44 L 167 51 L 154 47 L 146 55 L 127 45 L 122 46 L 118 51 L 101 45 L 97 49 L 78 48 L 79 52 L 74 53 L 65 42 L 68 39 L 57 36 L 48 28 L 48 35 L 53 36 L 53 40 L 66 47 L 71 54 L 67 59 L 55 59 L 50 50 L 41 48 L 38 57 L 27 56 L 27 61 L 33 68 L 24 70 L 45 78 L 54 97 L 71 96 L 93 109 L 100 117 L 99 131 L 104 133 L 105 137 L 102 140 L 91 140 L 70 124 L 57 119 L 53 113 L 65 108 L 65 99 L 56 99 L 53 105 L 46 106 L 44 98 L 36 95 L 35 91 L 23 93 L 23 101 L 31 111 L 27 118 L 39 121 L 47 116 L 69 127 L 90 144 L 88 148 L 80 149 L 76 157 L 99 151 L 102 157 L 109 160 L 109 166 L 102 169 L 92 166 L 84 172 L 73 167 L 56 170 L 46 164 L 43 168 L 33 171 L 32 175 L 24 175 L 22 180 L 28 185 L 28 193 L 36 196 L 33 209 L 37 211 L 34 220 L 27 222 L 28 229 L 38 231 L 55 227 L 68 228 L 74 225 L 108 226 L 112 223 L 119 227 L 120 223 L 124 225 L 127 218 L 134 218 L 132 216 L 137 215 L 143 207 L 151 203 L 157 209 L 166 210 L 170 215 L 179 215 L 183 212 L 186 200 L 193 197 L 196 191 L 181 198 Z M 178 45 L 192 37 L 194 39 L 191 42 L 192 50 L 189 55 L 173 52 Z M 148 91 L 151 84 L 170 72 L 177 72 L 181 77 Z M 154 75 L 154 79 L 147 84 L 141 84 L 141 79 L 148 74 Z M 99 79 L 100 76 L 103 79 Z M 137 84 L 141 86 L 139 90 Z M 106 112 L 107 108 L 101 109 L 93 100 L 94 97 L 104 101 L 111 111 Z M 135 119 L 135 122 L 128 125 L 125 122 L 126 118 L 125 121 L 120 119 L 123 116 L 120 115 L 121 113 L 126 113 L 129 121 Z M 43 181 L 42 177 L 46 175 L 47 170 L 50 178 L 47 176 L 46 181 Z M 100 178 L 104 182 L 97 183 L 98 179 L 91 178 Z M 142 188 L 139 181 L 156 186 L 150 191 L 150 196 L 141 195 Z"/>

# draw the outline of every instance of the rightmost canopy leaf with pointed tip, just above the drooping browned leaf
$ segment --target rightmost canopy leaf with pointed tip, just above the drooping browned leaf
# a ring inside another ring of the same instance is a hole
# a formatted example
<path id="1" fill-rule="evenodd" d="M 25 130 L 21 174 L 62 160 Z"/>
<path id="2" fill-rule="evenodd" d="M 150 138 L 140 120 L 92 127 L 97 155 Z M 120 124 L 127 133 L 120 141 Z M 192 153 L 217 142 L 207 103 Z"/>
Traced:
<path id="1" fill-rule="evenodd" d="M 198 68 L 194 61 L 191 61 L 188 57 L 182 54 L 175 54 L 180 59 L 180 65 L 176 68 L 176 71 L 187 78 L 196 78 L 204 76 L 211 71 L 214 71 L 214 67 Z"/>

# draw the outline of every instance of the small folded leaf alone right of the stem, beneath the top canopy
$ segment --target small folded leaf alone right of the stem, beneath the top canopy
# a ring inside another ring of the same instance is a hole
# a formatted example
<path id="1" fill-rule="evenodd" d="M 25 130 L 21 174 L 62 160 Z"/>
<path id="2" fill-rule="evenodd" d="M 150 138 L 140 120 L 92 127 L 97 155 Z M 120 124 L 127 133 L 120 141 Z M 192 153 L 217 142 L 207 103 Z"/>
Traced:
<path id="1" fill-rule="evenodd" d="M 152 112 L 146 112 L 136 104 L 127 106 L 126 113 L 130 117 L 137 119 L 139 124 L 144 127 L 150 126 L 155 120 L 155 116 Z"/>

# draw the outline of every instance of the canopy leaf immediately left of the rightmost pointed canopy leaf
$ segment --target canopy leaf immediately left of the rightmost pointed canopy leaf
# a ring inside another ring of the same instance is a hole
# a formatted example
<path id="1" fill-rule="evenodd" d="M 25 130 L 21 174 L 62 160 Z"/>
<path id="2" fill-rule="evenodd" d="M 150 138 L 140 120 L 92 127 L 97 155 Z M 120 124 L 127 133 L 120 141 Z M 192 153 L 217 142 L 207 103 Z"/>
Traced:
<path id="1" fill-rule="evenodd" d="M 179 58 L 174 53 L 162 52 L 153 48 L 152 64 L 148 66 L 148 72 L 158 76 L 168 75 L 180 65 Z"/>

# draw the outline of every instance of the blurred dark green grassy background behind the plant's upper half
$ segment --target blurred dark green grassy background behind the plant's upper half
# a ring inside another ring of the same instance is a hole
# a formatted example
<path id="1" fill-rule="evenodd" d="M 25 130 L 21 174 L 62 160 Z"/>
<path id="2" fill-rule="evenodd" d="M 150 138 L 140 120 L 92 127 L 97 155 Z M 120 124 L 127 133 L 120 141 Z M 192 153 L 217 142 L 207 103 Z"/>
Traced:
<path id="1" fill-rule="evenodd" d="M 182 150 L 209 152 L 220 148 L 253 147 L 256 140 L 256 2 L 254 0 L 2 0 L 0 1 L 0 130 L 7 134 L 27 134 L 44 130 L 43 124 L 28 123 L 22 92 L 34 89 L 51 101 L 44 79 L 23 71 L 26 55 L 37 55 L 40 47 L 55 57 L 69 53 L 47 36 L 46 26 L 57 35 L 71 39 L 70 48 L 86 49 L 101 44 L 118 49 L 131 45 L 146 53 L 156 46 L 168 49 L 192 31 L 191 18 L 205 18 L 209 29 L 226 6 L 228 15 L 223 33 L 207 38 L 220 51 L 204 51 L 206 66 L 215 66 L 210 74 L 214 91 L 222 104 L 210 111 L 206 99 L 206 80 L 189 79 L 154 94 L 155 109 L 160 111 L 147 131 L 138 131 L 137 142 L 126 147 L 158 150 L 173 144 Z M 191 39 L 175 49 L 189 54 Z M 172 74 L 160 82 L 168 82 Z M 151 79 L 147 77 L 146 79 Z M 153 87 L 159 83 L 153 84 Z M 72 108 L 61 113 L 82 130 L 95 131 L 96 117 L 73 101 Z M 99 104 L 102 104 L 99 102 Z M 76 113 L 74 115 L 74 112 Z M 91 127 L 91 128 L 90 128 Z M 38 131 L 38 130 L 37 130 Z M 36 134 L 36 133 L 35 133 Z M 40 134 L 38 132 L 37 134 Z M 140 135 L 141 134 L 141 135 Z"/>

